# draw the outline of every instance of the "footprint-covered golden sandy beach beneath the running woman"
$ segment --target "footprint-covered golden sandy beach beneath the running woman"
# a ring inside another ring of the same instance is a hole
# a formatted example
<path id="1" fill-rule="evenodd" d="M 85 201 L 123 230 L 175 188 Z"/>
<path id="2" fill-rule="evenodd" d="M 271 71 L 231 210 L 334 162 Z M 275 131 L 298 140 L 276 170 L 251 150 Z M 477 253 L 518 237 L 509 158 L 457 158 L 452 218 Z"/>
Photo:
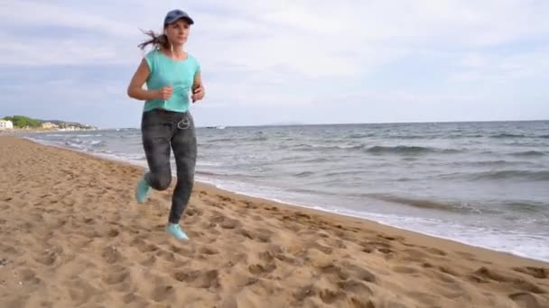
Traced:
<path id="1" fill-rule="evenodd" d="M 549 264 L 0 137 L 0 307 L 549 307 Z"/>

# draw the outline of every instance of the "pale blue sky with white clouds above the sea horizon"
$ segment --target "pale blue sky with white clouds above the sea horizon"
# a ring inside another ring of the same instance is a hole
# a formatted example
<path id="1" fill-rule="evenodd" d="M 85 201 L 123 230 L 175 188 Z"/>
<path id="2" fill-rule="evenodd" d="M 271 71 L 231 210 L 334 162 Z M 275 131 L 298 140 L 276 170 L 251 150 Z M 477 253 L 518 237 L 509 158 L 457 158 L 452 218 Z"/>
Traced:
<path id="1" fill-rule="evenodd" d="M 138 127 L 140 29 L 172 8 L 199 126 L 549 119 L 549 1 L 5 1 L 0 116 Z"/>

